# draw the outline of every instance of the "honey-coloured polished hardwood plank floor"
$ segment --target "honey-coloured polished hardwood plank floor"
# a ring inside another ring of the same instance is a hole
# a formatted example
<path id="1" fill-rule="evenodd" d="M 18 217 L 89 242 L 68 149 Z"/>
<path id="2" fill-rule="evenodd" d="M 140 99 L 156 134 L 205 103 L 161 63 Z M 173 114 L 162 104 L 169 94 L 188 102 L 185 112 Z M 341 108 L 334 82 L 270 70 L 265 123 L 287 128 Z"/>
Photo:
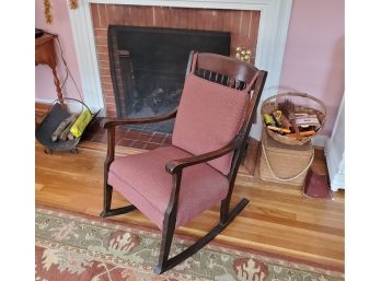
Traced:
<path id="1" fill-rule="evenodd" d="M 119 147 L 117 155 L 139 153 Z M 325 172 L 322 151 L 313 168 Z M 51 206 L 99 215 L 103 197 L 105 144 L 83 142 L 78 154 L 45 154 L 36 143 L 36 204 Z M 256 169 L 258 171 L 258 168 Z M 334 200 L 305 198 L 299 187 L 266 183 L 244 169 L 236 179 L 233 203 L 240 198 L 250 204 L 217 238 L 217 242 L 282 255 L 324 267 L 344 270 L 344 191 Z M 116 194 L 115 207 L 127 202 Z M 219 219 L 219 209 L 206 211 L 176 233 L 201 236 Z M 139 211 L 113 220 L 155 227 Z"/>

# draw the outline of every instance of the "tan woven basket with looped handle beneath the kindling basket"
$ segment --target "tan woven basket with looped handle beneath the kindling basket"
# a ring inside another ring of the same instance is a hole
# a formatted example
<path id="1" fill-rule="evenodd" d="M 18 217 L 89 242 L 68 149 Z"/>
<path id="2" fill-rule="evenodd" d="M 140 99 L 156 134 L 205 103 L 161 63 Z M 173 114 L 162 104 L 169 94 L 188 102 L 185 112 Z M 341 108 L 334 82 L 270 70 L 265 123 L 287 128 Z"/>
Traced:
<path id="1" fill-rule="evenodd" d="M 302 145 L 290 147 L 279 143 L 263 133 L 261 179 L 302 186 L 313 159 L 314 150 L 311 141 Z"/>

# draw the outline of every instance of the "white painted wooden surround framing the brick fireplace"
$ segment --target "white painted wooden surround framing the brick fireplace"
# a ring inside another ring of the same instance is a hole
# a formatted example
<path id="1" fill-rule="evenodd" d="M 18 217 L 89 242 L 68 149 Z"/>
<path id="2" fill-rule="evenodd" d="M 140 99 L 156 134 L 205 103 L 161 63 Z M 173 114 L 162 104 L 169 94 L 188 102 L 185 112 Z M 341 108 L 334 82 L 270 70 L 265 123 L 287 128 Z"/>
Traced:
<path id="1" fill-rule="evenodd" d="M 69 10 L 70 24 L 84 102 L 93 109 L 102 109 L 100 116 L 105 116 L 105 106 L 96 59 L 91 3 L 261 11 L 254 65 L 258 69 L 268 71 L 262 101 L 278 92 L 292 0 L 80 0 L 78 9 Z M 257 117 L 257 120 L 261 120 L 259 113 Z M 253 125 L 251 136 L 261 139 L 261 121 Z"/>

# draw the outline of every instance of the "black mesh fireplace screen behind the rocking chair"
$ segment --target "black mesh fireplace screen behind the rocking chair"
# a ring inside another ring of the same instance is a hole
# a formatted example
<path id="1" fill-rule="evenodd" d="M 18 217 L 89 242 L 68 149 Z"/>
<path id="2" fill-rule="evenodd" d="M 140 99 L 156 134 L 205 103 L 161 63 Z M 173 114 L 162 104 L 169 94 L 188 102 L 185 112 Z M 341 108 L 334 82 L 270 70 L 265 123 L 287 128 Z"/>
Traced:
<path id="1" fill-rule="evenodd" d="M 230 33 L 111 25 L 108 52 L 118 117 L 173 110 L 182 94 L 190 50 L 229 56 Z M 172 132 L 173 121 L 145 129 Z"/>

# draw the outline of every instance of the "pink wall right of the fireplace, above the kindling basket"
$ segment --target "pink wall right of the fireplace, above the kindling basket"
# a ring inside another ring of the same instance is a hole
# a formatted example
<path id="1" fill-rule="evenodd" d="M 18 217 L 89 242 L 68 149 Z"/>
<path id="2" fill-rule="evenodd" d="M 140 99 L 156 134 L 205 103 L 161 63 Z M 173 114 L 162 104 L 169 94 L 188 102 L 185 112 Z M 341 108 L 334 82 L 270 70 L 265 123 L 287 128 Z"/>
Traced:
<path id="1" fill-rule="evenodd" d="M 293 0 L 279 84 L 320 98 L 331 136 L 344 93 L 344 0 Z"/>

